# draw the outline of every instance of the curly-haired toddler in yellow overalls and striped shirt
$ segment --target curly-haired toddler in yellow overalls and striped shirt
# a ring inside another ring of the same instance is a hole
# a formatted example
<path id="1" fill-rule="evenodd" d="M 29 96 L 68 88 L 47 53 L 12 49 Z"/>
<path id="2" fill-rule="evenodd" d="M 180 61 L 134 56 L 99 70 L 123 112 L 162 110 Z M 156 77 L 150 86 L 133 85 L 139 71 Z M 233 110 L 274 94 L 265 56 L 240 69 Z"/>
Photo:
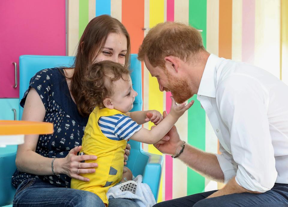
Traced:
<path id="1" fill-rule="evenodd" d="M 155 110 L 129 112 L 137 92 L 132 88 L 130 71 L 126 67 L 101 61 L 89 66 L 84 78 L 83 96 L 93 111 L 85 128 L 80 154 L 96 155 L 97 161 L 85 162 L 97 162 L 98 167 L 95 173 L 85 175 L 90 182 L 72 179 L 71 188 L 93 192 L 108 206 L 108 189 L 122 180 L 127 140 L 157 143 L 192 102 L 177 105 L 171 97 L 171 110 L 165 119 Z M 140 126 L 150 120 L 157 125 L 153 129 Z M 128 168 L 124 169 L 124 176 L 132 179 Z"/>

